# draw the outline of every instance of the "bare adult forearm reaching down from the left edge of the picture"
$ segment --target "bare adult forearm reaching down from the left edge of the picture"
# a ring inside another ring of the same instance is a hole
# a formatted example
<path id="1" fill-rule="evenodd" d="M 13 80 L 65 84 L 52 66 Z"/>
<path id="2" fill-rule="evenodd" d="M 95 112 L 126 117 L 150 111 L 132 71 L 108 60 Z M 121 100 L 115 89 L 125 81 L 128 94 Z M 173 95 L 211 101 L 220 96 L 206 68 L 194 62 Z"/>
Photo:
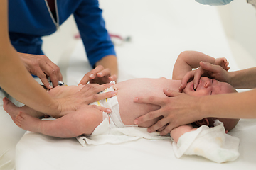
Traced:
<path id="1" fill-rule="evenodd" d="M 1 51 L 0 86 L 16 100 L 43 113 L 58 113 L 58 103 L 31 77 L 11 45 Z"/>

